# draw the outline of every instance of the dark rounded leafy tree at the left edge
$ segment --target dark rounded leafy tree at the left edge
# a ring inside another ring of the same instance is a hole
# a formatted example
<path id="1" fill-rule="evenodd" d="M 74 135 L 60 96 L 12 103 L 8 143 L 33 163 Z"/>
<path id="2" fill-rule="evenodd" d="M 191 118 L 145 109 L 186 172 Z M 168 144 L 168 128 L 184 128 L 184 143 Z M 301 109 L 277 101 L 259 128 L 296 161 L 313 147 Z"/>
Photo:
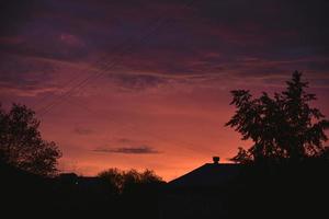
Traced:
<path id="1" fill-rule="evenodd" d="M 39 174 L 56 173 L 61 152 L 42 138 L 39 120 L 25 105 L 13 104 L 7 113 L 0 105 L 0 159 L 19 169 Z"/>

